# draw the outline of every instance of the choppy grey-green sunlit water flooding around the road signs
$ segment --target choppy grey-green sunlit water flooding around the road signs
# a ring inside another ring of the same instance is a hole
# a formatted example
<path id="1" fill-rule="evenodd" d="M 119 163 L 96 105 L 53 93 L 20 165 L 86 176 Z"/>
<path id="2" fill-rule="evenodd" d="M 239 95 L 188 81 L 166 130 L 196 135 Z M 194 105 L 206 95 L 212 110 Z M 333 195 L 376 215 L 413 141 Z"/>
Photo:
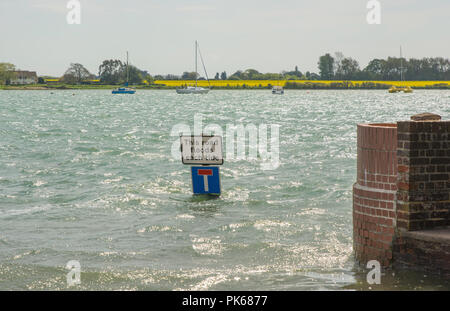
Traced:
<path id="1" fill-rule="evenodd" d="M 75 94 L 75 95 L 73 95 Z M 450 92 L 0 92 L 0 289 L 367 289 L 352 257 L 356 124 L 424 111 Z M 171 156 L 177 123 L 279 124 L 280 161 L 227 161 L 223 195 L 193 197 Z M 449 289 L 421 273 L 378 289 Z M 72 288 L 73 289 L 73 288 Z"/>

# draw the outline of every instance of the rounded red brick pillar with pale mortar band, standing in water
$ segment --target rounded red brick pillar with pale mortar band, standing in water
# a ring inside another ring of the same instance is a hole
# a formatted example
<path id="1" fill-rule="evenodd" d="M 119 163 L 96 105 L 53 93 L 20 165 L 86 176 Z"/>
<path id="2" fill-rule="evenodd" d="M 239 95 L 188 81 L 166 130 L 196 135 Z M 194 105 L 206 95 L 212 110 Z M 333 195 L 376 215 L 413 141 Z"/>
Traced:
<path id="1" fill-rule="evenodd" d="M 392 261 L 397 191 L 396 124 L 359 124 L 353 186 L 353 248 L 358 261 Z"/>

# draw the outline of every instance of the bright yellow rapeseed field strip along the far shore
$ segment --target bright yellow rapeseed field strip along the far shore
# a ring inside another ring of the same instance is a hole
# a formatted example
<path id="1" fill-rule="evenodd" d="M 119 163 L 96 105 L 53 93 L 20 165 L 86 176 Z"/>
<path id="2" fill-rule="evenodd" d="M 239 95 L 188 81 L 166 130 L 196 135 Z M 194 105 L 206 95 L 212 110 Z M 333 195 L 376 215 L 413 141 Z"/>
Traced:
<path id="1" fill-rule="evenodd" d="M 450 87 L 450 81 L 342 81 L 342 80 L 198 80 L 197 85 L 201 87 L 216 86 L 216 87 L 242 87 L 244 84 L 247 87 L 267 87 L 269 85 L 284 86 L 286 82 L 298 83 L 298 84 L 323 84 L 330 85 L 332 83 L 351 83 L 353 86 L 358 87 L 361 84 L 373 83 L 373 84 L 385 84 L 389 86 L 410 86 L 412 88 L 423 88 L 434 85 L 446 85 Z M 185 85 L 195 85 L 195 81 L 192 80 L 156 80 L 155 84 L 166 85 L 169 87 L 181 87 Z"/>

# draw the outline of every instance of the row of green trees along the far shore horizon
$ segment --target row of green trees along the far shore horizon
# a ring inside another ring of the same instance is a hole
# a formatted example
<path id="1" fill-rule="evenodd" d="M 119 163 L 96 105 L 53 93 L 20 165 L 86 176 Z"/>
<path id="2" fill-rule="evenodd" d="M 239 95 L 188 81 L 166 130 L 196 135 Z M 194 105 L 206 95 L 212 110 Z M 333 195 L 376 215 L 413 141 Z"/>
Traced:
<path id="1" fill-rule="evenodd" d="M 372 59 L 361 69 L 357 60 L 346 57 L 340 52 L 334 56 L 326 53 L 319 57 L 318 73 L 301 72 L 297 66 L 291 71 L 281 73 L 261 73 L 256 69 L 238 70 L 231 75 L 225 71 L 217 72 L 216 80 L 367 80 L 367 81 L 450 81 L 450 60 L 443 57 Z M 0 63 L 0 84 L 6 84 L 14 78 L 15 66 Z M 156 75 L 152 77 L 148 71 L 129 65 L 118 59 L 104 60 L 98 75 L 89 72 L 82 64 L 72 63 L 61 78 L 67 84 L 81 84 L 88 80 L 99 79 L 102 84 L 123 84 L 128 80 L 130 84 L 152 83 L 154 80 L 202 80 L 198 73 L 183 72 L 181 75 Z M 41 83 L 43 79 L 39 80 Z"/>

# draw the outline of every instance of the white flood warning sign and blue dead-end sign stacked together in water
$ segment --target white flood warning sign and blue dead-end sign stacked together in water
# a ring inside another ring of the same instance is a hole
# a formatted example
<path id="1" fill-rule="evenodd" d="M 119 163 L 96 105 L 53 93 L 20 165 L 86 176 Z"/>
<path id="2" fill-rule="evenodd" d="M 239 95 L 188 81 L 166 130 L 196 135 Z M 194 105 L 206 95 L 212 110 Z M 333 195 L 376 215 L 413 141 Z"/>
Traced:
<path id="1" fill-rule="evenodd" d="M 191 167 L 192 191 L 194 194 L 220 195 L 220 173 L 222 165 L 221 136 L 180 136 L 181 161 Z"/>

